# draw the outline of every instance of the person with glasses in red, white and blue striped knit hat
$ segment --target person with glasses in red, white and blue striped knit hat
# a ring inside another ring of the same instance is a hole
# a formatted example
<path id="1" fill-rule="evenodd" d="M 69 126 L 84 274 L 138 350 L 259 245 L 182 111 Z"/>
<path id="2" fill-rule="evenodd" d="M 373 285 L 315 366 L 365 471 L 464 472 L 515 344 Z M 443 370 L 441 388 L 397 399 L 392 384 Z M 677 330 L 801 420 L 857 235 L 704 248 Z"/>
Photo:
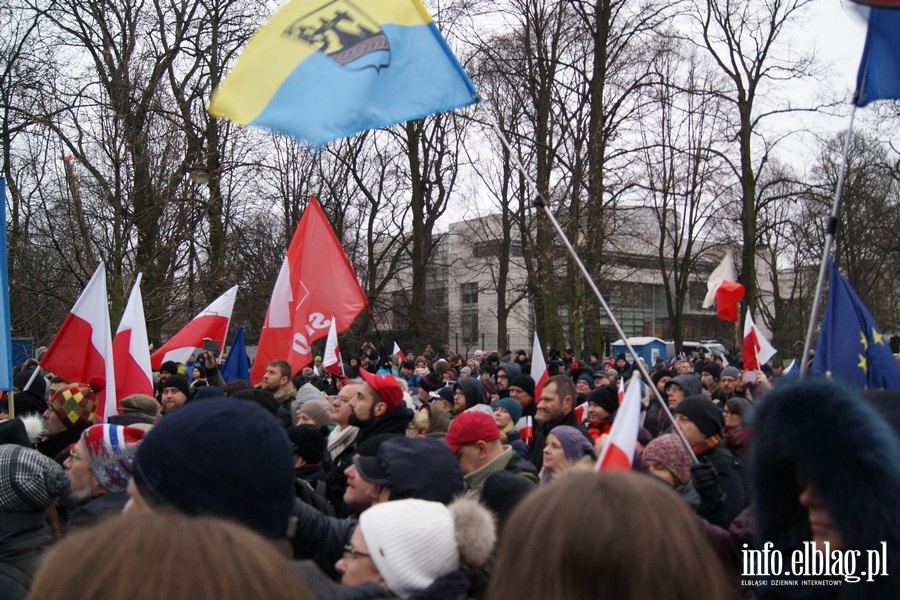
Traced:
<path id="1" fill-rule="evenodd" d="M 66 504 L 69 527 L 90 525 L 107 515 L 122 512 L 128 502 L 125 488 L 131 465 L 145 429 L 121 425 L 93 425 L 63 463 L 72 483 Z"/>

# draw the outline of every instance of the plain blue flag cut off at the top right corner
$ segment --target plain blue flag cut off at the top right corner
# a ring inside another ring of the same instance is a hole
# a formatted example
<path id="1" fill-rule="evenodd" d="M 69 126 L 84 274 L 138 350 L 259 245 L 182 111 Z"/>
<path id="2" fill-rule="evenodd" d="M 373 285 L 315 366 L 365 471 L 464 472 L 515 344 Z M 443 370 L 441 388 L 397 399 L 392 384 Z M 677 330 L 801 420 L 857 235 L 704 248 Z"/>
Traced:
<path id="1" fill-rule="evenodd" d="M 854 0 L 873 4 L 869 9 L 866 44 L 856 75 L 854 104 L 900 99 L 900 2 Z"/>

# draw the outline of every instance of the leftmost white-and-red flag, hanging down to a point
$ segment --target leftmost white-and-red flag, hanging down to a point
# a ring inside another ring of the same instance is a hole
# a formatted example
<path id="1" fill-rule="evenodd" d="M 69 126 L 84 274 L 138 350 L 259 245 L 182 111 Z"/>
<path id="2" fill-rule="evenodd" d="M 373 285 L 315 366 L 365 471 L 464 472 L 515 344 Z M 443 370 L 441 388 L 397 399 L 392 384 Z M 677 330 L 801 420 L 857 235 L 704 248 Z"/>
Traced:
<path id="1" fill-rule="evenodd" d="M 90 383 L 102 377 L 105 384 L 96 415 L 98 422 L 104 422 L 118 413 L 112 357 L 106 265 L 101 262 L 50 342 L 41 367 L 69 383 Z"/>

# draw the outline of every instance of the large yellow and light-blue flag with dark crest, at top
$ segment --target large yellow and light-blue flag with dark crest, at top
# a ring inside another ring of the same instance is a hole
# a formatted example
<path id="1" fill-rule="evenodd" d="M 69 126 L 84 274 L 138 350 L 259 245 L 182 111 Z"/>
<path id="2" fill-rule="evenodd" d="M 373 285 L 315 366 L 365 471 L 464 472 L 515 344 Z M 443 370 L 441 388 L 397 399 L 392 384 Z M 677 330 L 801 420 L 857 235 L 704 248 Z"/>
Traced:
<path id="1" fill-rule="evenodd" d="M 250 39 L 209 112 L 321 146 L 477 101 L 419 0 L 291 0 Z"/>

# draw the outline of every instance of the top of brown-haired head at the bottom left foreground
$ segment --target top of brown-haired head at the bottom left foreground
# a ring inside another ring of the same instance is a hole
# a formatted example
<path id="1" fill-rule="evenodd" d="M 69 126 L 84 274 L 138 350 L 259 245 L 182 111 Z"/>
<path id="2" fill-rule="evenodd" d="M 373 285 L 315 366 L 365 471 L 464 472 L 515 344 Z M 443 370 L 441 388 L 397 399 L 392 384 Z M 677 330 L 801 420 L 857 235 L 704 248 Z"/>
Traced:
<path id="1" fill-rule="evenodd" d="M 287 558 L 233 522 L 123 515 L 67 537 L 41 561 L 31 600 L 312 600 Z"/>

